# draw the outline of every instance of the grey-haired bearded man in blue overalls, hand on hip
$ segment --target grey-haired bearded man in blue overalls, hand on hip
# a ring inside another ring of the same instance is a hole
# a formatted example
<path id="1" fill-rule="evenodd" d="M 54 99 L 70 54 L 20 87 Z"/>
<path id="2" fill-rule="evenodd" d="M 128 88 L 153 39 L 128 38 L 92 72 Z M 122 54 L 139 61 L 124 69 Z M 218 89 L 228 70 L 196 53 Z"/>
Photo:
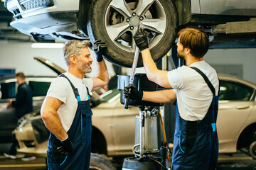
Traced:
<path id="1" fill-rule="evenodd" d="M 95 41 L 97 76 L 85 78 L 92 71 L 88 41 L 70 40 L 63 47 L 68 72 L 50 84 L 41 108 L 41 116 L 50 137 L 47 149 L 48 169 L 87 169 L 90 166 L 92 111 L 90 91 L 107 85 L 109 75 L 102 50 L 107 45 Z"/>

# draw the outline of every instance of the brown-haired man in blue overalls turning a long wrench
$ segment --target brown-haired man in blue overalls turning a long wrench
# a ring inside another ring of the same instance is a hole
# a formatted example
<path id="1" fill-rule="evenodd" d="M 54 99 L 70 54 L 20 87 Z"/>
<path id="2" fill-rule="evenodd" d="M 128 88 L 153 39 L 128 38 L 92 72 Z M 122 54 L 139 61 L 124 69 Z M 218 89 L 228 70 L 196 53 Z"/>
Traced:
<path id="1" fill-rule="evenodd" d="M 129 85 L 124 88 L 124 96 L 156 103 L 176 101 L 171 169 L 216 169 L 219 80 L 215 69 L 203 60 L 210 44 L 208 35 L 197 27 L 180 30 L 177 56 L 185 60 L 187 66 L 170 72 L 157 69 L 144 30 L 138 29 L 134 40 L 142 51 L 146 76 L 169 90 L 138 91 L 137 87 Z"/>

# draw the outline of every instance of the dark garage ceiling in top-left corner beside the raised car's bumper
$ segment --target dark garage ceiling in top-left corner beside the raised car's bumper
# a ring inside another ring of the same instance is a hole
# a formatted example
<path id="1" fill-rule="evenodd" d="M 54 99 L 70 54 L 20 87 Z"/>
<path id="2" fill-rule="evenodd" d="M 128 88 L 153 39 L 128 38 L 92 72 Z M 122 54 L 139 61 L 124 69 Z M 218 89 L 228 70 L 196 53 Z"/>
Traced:
<path id="1" fill-rule="evenodd" d="M 17 42 L 35 42 L 31 36 L 24 35 L 10 26 L 13 14 L 4 7 L 4 2 L 0 1 L 0 40 Z"/>

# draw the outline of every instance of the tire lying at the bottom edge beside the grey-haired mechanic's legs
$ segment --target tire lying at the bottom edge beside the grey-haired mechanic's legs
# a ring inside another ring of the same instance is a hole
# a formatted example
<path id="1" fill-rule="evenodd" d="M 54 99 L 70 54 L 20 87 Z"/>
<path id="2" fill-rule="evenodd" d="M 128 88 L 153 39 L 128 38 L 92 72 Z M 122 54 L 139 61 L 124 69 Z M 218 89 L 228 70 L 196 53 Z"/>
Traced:
<path id="1" fill-rule="evenodd" d="M 90 170 L 117 170 L 117 168 L 105 157 L 99 154 L 91 154 Z"/>

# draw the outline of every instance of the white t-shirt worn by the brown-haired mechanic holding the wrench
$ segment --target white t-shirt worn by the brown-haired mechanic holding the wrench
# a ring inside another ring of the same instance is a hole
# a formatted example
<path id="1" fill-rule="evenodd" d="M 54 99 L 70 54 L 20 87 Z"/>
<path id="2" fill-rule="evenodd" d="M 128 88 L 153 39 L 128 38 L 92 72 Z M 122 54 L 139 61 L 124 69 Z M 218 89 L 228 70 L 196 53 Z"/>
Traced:
<path id="1" fill-rule="evenodd" d="M 210 65 L 204 61 L 194 62 L 190 67 L 200 69 L 210 80 L 218 95 L 218 76 Z M 169 83 L 176 89 L 178 111 L 184 120 L 202 120 L 213 100 L 213 93 L 201 74 L 187 66 L 178 67 L 167 74 Z"/>

